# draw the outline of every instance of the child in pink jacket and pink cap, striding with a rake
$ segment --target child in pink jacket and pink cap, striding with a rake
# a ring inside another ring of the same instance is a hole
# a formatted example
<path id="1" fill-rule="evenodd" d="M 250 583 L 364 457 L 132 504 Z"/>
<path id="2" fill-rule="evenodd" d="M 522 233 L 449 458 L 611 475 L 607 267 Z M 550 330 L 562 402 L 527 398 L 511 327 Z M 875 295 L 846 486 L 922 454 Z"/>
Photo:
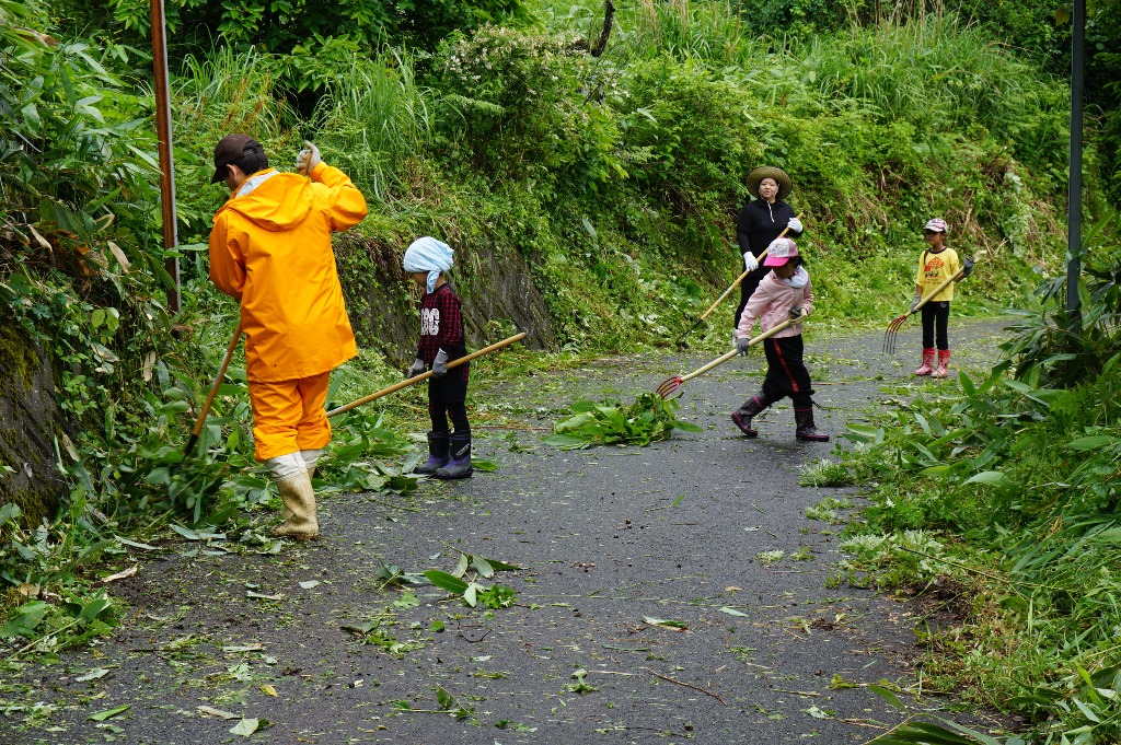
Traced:
<path id="1" fill-rule="evenodd" d="M 797 244 L 779 238 L 767 246 L 765 267 L 771 272 L 759 282 L 759 289 L 748 300 L 740 325 L 735 329 L 735 348 L 748 353 L 748 343 L 756 320 L 766 332 L 787 318 L 799 318 L 814 309 L 814 292 L 809 273 L 803 267 Z M 732 412 L 732 421 L 748 437 L 759 432 L 751 428 L 751 418 L 771 403 L 789 395 L 794 400 L 795 437 L 799 440 L 825 443 L 830 436 L 814 427 L 814 390 L 809 371 L 802 361 L 802 324 L 791 324 L 770 338 L 763 339 L 767 354 L 767 378 L 762 390 Z"/>

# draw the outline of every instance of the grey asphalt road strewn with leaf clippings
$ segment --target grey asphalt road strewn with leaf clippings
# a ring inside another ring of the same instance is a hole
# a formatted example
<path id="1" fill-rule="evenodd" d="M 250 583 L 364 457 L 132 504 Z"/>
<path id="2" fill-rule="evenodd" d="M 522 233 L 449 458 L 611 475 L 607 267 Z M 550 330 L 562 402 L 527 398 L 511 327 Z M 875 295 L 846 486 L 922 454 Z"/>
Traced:
<path id="1" fill-rule="evenodd" d="M 955 363 L 994 360 L 997 329 L 955 325 L 955 339 L 970 338 Z M 880 334 L 807 345 L 822 428 L 836 435 L 908 394 L 918 344 L 907 330 L 897 358 L 879 354 Z M 728 413 L 760 382 L 762 355 L 688 383 L 680 412 L 704 431 L 648 448 L 558 451 L 541 432 L 485 427 L 499 416 L 545 427 L 576 398 L 630 399 L 712 356 L 613 360 L 481 388 L 476 454 L 501 468 L 425 484 L 402 502 L 416 511 L 336 496 L 323 504 L 324 539 L 278 556 L 139 552 L 139 574 L 115 585 L 132 603 L 120 632 L 8 681 L 0 698 L 30 686 L 25 705 L 55 708 L 25 727 L 27 710 L 0 707 L 0 743 L 244 739 L 229 733 L 237 719 L 200 705 L 269 720 L 250 738 L 269 743 L 867 742 L 878 734 L 868 725 L 902 715 L 831 681 L 910 685 L 917 608 L 828 586 L 840 527 L 806 507 L 859 497 L 798 485 L 799 467 L 833 444 L 796 443 L 789 401 L 758 420 L 758 439 L 739 436 Z M 488 614 L 377 578 L 383 561 L 450 571 L 455 549 L 527 567 L 495 576 L 518 605 Z M 763 551 L 785 556 L 766 565 Z M 365 643 L 343 628 L 363 623 Z M 98 669 L 109 672 L 77 680 Z M 446 708 L 439 689 L 464 718 L 420 711 Z"/>

